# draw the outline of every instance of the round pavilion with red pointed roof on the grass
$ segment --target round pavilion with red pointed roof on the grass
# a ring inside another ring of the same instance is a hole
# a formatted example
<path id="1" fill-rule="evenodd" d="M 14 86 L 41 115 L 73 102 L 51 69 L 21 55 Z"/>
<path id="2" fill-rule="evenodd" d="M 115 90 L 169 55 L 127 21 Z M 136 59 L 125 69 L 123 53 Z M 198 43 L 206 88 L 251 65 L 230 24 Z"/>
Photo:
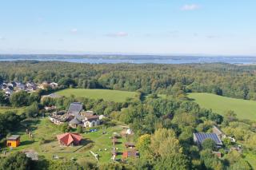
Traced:
<path id="1" fill-rule="evenodd" d="M 64 146 L 73 146 L 80 144 L 82 136 L 78 133 L 66 132 L 61 135 L 57 135 L 59 144 Z"/>

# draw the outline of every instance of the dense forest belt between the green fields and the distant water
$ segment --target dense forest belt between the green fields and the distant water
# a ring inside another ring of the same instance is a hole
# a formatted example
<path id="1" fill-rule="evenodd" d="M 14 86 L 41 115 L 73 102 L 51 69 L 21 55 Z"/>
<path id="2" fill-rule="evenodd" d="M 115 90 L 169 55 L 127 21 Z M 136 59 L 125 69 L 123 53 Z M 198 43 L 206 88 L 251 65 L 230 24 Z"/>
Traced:
<path id="1" fill-rule="evenodd" d="M 256 100 L 256 66 L 0 62 L 0 81 L 55 81 L 64 87 L 143 93 L 207 92 Z"/>

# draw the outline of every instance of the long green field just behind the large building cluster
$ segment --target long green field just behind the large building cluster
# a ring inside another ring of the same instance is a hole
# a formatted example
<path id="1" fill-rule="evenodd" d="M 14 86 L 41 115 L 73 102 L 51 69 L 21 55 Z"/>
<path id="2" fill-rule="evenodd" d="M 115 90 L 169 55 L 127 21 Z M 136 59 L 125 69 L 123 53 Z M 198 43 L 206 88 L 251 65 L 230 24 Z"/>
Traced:
<path id="1" fill-rule="evenodd" d="M 127 98 L 134 98 L 136 92 L 127 92 L 111 89 L 63 89 L 58 91 L 57 94 L 70 97 L 87 97 L 93 99 L 103 99 L 104 101 L 122 102 Z"/>

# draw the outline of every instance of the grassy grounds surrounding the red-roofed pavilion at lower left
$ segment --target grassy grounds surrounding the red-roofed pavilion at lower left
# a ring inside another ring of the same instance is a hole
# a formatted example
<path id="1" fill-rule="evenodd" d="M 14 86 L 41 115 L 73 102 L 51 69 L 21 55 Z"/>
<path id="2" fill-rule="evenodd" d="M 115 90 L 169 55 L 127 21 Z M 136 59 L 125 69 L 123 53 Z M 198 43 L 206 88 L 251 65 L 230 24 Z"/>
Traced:
<path id="1" fill-rule="evenodd" d="M 119 133 L 122 131 L 122 128 L 118 126 L 104 129 L 106 134 L 102 134 L 103 129 L 98 129 L 97 132 L 83 133 L 82 144 L 78 146 L 61 147 L 58 144 L 56 135 L 62 134 L 62 132 L 58 128 L 58 125 L 52 124 L 47 118 L 24 121 L 22 124 L 27 125 L 34 137 L 30 138 L 26 134 L 26 128 L 22 128 L 18 132 L 13 132 L 13 134 L 21 136 L 21 145 L 18 148 L 13 148 L 11 152 L 32 150 L 38 152 L 38 156 L 45 156 L 47 159 L 58 156 L 66 160 L 86 159 L 96 161 L 94 156 L 90 154 L 90 151 L 93 151 L 99 155 L 100 164 L 111 161 L 113 145 L 110 136 L 114 132 Z M 42 139 L 45 140 L 44 143 L 42 143 Z M 115 145 L 118 148 L 117 158 L 121 158 L 125 142 L 126 139 L 124 138 L 118 139 L 118 143 Z M 6 149 L 8 150 L 9 148 Z"/>

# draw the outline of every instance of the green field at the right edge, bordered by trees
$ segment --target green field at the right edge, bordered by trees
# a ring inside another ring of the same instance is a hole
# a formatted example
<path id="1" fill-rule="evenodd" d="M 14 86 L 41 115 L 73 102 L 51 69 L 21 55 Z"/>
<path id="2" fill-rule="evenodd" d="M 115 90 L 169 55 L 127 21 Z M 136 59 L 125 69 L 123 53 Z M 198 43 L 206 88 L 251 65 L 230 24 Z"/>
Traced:
<path id="1" fill-rule="evenodd" d="M 189 93 L 188 97 L 194 99 L 202 108 L 212 109 L 220 115 L 233 110 L 239 119 L 256 121 L 256 101 L 221 97 L 210 93 Z"/>

